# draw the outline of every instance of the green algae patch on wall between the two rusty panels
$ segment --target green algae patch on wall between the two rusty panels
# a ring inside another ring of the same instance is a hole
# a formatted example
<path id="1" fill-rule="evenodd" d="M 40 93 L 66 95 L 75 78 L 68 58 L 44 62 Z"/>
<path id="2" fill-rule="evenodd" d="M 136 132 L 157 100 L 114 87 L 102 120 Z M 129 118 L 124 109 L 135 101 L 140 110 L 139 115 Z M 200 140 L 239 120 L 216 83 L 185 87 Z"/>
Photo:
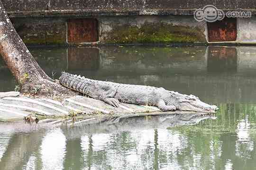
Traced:
<path id="1" fill-rule="evenodd" d="M 113 26 L 102 42 L 109 44 L 205 43 L 205 36 L 198 27 L 145 23 L 140 28 L 128 25 Z"/>

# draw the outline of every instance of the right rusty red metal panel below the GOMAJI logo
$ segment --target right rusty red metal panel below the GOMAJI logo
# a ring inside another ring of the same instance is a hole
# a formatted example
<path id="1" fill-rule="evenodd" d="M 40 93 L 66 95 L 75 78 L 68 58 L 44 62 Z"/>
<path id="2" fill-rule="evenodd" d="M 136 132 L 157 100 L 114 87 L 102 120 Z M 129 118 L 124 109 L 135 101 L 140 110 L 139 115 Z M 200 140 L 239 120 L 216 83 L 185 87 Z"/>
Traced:
<path id="1" fill-rule="evenodd" d="M 237 39 L 237 18 L 207 22 L 207 28 L 209 42 L 236 41 Z"/>

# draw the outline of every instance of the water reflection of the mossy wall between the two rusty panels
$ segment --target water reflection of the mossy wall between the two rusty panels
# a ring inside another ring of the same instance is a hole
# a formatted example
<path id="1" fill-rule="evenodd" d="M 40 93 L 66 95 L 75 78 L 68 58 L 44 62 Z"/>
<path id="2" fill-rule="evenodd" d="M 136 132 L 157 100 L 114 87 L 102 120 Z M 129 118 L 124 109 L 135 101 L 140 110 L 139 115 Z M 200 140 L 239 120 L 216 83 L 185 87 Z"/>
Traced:
<path id="1" fill-rule="evenodd" d="M 201 72 L 206 70 L 204 53 L 205 47 L 103 48 L 101 49 L 101 70 L 134 74 Z"/>

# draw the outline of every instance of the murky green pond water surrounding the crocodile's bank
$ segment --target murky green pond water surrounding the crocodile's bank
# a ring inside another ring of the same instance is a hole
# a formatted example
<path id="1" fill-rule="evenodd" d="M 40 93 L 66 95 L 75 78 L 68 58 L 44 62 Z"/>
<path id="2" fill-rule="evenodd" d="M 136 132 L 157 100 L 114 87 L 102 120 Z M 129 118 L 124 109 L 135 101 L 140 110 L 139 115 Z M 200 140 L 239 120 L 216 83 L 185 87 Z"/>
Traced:
<path id="1" fill-rule="evenodd" d="M 164 87 L 220 109 L 197 125 L 0 124 L 0 170 L 256 169 L 256 47 L 32 48 L 48 75 Z M 0 61 L 0 91 L 15 81 Z M 149 121 L 149 120 L 143 120 Z"/>

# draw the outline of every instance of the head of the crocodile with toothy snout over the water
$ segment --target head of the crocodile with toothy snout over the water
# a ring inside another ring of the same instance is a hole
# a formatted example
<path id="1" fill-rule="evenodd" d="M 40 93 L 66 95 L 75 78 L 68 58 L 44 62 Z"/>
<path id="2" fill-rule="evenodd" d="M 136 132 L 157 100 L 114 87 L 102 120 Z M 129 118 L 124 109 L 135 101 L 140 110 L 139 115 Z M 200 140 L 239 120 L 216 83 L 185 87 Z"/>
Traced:
<path id="1" fill-rule="evenodd" d="M 172 96 L 172 104 L 177 110 L 215 113 L 215 111 L 219 109 L 215 105 L 209 105 L 202 102 L 198 97 L 193 95 L 184 95 L 178 92 L 173 92 Z"/>

